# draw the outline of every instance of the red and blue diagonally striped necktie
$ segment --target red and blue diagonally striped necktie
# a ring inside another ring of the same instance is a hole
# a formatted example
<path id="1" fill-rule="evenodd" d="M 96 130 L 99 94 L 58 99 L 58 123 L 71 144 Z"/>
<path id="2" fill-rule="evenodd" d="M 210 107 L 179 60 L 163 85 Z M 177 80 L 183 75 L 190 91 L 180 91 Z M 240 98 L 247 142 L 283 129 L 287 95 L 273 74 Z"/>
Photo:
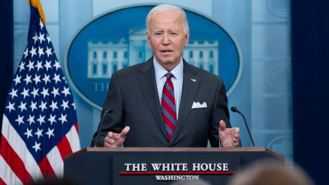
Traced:
<path id="1" fill-rule="evenodd" d="M 166 128 L 167 136 L 169 140 L 173 138 L 173 132 L 175 132 L 175 127 L 177 124 L 176 118 L 176 106 L 175 106 L 175 94 L 173 93 L 173 82 L 171 82 L 171 77 L 173 74 L 166 74 L 167 81 L 164 83 L 162 90 L 161 99 L 161 112 L 164 121 L 164 127 Z"/>

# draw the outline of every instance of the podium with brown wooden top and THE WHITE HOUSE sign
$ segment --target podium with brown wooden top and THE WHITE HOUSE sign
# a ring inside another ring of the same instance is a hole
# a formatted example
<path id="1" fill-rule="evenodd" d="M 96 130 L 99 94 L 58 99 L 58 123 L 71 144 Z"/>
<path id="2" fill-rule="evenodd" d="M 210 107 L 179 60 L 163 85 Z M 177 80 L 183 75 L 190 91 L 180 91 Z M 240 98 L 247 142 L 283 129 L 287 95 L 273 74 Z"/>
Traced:
<path id="1" fill-rule="evenodd" d="M 266 148 L 85 148 L 64 160 L 64 177 L 82 184 L 226 184 L 251 162 L 284 156 Z"/>

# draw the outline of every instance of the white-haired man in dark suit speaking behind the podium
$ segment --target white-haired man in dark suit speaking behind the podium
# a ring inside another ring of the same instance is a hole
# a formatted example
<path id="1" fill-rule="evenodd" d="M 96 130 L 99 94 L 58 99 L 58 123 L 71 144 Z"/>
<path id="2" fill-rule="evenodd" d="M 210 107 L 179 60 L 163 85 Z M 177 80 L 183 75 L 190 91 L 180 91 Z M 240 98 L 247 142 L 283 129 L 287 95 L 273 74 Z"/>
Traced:
<path id="1" fill-rule="evenodd" d="M 184 10 L 158 5 L 149 12 L 154 57 L 112 74 L 92 146 L 206 147 L 208 139 L 212 147 L 240 146 L 222 79 L 182 58 L 188 38 Z"/>

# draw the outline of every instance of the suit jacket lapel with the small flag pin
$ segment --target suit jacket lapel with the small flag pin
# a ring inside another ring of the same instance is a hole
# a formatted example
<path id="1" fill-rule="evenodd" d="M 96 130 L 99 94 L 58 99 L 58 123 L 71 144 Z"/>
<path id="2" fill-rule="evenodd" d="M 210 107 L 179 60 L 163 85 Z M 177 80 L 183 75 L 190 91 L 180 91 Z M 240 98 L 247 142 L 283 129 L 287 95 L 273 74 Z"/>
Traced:
<path id="1" fill-rule="evenodd" d="M 178 123 L 175 128 L 175 133 L 171 139 L 171 143 L 175 141 L 182 132 L 185 125 L 186 118 L 191 110 L 193 101 L 195 101 L 195 96 L 197 95 L 197 90 L 199 89 L 200 79 L 196 77 L 197 71 L 195 71 L 190 64 L 184 60 L 184 77 L 183 77 L 183 88 L 182 97 L 180 101 L 180 112 L 178 114 Z"/>

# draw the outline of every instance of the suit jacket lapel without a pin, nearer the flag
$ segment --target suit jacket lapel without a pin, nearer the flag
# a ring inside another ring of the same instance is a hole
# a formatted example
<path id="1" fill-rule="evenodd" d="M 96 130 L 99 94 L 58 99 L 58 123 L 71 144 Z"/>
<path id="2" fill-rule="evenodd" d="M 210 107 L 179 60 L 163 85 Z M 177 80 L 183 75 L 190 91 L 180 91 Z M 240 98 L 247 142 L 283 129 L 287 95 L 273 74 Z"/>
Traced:
<path id="1" fill-rule="evenodd" d="M 156 123 L 158 123 L 159 129 L 165 138 L 167 138 L 166 130 L 164 129 L 164 121 L 160 112 L 160 102 L 158 97 L 158 89 L 156 88 L 156 78 L 154 73 L 153 58 L 150 58 L 145 62 L 140 69 L 141 75 L 137 77 L 138 84 L 141 86 L 145 101 L 149 106 Z"/>

